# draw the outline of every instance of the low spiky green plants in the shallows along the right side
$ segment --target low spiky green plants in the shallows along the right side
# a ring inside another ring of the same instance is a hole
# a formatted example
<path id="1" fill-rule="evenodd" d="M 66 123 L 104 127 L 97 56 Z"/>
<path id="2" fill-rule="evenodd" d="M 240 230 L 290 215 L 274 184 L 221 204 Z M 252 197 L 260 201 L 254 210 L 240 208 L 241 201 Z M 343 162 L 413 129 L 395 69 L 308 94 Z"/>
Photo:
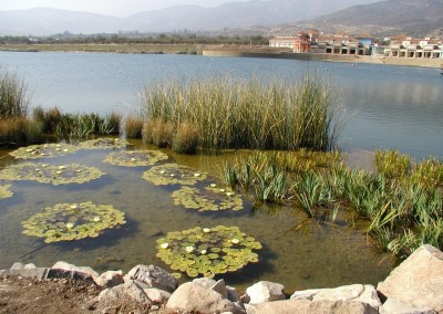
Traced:
<path id="1" fill-rule="evenodd" d="M 443 248 L 443 163 L 420 163 L 399 151 L 375 151 L 377 172 L 347 167 L 339 155 L 327 165 L 301 159 L 297 151 L 260 151 L 226 163 L 220 179 L 257 201 L 284 203 L 317 222 L 336 221 L 339 211 L 356 212 L 367 221 L 374 243 L 400 258 L 422 244 Z M 320 153 L 318 153 L 320 154 Z M 307 153 L 301 153 L 306 156 Z M 316 156 L 316 155 L 311 155 Z M 333 155 L 332 155 L 333 156 Z M 298 226 L 297 228 L 298 229 Z"/>

